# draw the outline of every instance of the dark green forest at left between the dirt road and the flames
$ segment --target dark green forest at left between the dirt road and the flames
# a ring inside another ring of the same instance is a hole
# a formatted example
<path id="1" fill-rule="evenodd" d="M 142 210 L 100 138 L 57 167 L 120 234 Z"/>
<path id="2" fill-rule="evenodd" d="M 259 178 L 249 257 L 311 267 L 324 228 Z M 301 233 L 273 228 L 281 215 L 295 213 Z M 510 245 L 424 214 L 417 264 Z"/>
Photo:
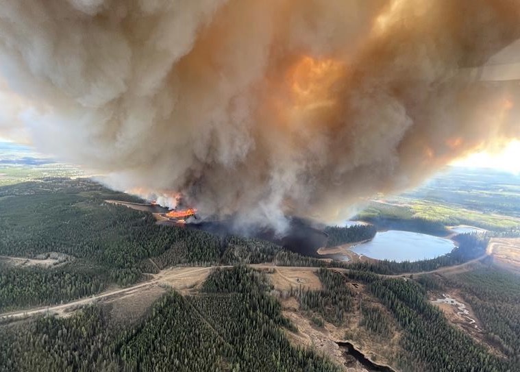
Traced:
<path id="1" fill-rule="evenodd" d="M 0 187 L 0 256 L 60 252 L 71 259 L 49 269 L 4 268 L 0 283 L 9 287 L 0 288 L 0 311 L 69 301 L 110 283 L 129 286 L 178 264 L 321 264 L 263 240 L 157 225 L 151 214 L 106 199 L 140 201 L 89 179 Z"/>

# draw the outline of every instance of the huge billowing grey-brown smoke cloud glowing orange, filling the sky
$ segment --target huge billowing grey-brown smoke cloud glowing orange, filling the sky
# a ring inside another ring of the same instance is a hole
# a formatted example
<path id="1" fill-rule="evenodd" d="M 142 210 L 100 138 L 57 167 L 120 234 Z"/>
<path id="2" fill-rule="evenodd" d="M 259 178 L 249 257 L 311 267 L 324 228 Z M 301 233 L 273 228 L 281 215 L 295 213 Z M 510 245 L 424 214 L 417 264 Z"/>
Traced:
<path id="1" fill-rule="evenodd" d="M 3 1 L 0 75 L 41 151 L 283 227 L 518 138 L 519 85 L 478 68 L 519 19 L 516 0 Z"/>

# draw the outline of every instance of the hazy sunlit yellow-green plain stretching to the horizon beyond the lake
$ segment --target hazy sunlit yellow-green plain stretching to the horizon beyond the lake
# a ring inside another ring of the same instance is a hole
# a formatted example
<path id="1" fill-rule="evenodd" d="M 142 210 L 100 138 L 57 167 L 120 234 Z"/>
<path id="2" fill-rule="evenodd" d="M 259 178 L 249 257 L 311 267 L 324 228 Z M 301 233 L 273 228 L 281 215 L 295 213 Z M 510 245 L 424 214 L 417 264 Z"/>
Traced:
<path id="1" fill-rule="evenodd" d="M 491 169 L 450 168 L 401 195 L 377 195 L 358 217 L 519 230 L 520 177 Z"/>

